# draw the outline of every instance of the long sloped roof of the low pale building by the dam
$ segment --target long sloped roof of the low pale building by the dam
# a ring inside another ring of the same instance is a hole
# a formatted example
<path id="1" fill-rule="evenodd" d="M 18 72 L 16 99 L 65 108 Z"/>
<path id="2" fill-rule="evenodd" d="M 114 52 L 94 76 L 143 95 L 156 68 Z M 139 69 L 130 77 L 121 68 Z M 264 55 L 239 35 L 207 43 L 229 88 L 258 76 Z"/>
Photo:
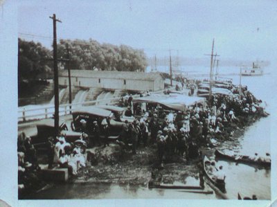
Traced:
<path id="1" fill-rule="evenodd" d="M 59 71 L 59 76 L 67 77 L 67 70 Z M 89 70 L 71 70 L 71 77 L 79 78 L 111 78 L 126 80 L 156 80 L 161 78 L 160 73 L 142 73 L 129 71 L 89 71 Z"/>

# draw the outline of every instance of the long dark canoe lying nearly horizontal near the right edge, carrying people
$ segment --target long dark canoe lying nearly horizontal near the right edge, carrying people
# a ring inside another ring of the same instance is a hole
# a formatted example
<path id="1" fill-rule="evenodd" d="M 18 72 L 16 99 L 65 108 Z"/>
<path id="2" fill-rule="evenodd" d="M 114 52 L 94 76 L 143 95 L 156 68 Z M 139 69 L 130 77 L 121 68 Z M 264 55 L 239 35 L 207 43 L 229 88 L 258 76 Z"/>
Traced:
<path id="1" fill-rule="evenodd" d="M 229 155 L 229 154 L 224 154 L 224 152 L 221 152 L 220 150 L 215 150 L 215 156 L 221 157 L 224 159 L 229 159 L 230 161 L 234 161 L 237 163 L 248 163 L 248 164 L 253 164 L 253 165 L 260 165 L 263 167 L 270 167 L 271 162 L 267 161 L 262 161 L 262 160 L 253 160 L 249 156 L 244 156 L 244 155 Z"/>

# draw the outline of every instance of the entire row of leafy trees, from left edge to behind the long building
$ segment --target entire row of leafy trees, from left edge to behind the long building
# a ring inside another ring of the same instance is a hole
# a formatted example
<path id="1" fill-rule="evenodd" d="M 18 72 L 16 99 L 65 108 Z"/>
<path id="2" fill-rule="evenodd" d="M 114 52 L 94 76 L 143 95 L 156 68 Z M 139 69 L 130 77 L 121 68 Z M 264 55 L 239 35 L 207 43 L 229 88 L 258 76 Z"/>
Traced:
<path id="1" fill-rule="evenodd" d="M 19 39 L 18 75 L 21 79 L 34 79 L 43 73 L 51 73 L 52 51 L 40 43 L 26 42 Z M 57 55 L 60 59 L 68 59 L 71 69 L 101 71 L 145 71 L 148 64 L 143 50 L 129 46 L 100 44 L 93 39 L 69 40 L 61 39 L 57 44 Z M 60 69 L 66 62 L 59 62 Z"/>

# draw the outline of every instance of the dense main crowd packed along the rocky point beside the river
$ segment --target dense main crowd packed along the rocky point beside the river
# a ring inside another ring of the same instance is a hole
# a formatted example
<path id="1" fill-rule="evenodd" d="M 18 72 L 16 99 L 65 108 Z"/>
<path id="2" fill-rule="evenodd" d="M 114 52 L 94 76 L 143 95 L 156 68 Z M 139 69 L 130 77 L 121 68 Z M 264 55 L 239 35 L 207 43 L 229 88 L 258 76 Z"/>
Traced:
<path id="1" fill-rule="evenodd" d="M 132 144 L 134 154 L 138 144 L 155 143 L 160 163 L 172 154 L 194 158 L 200 146 L 213 146 L 213 140 L 229 139 L 236 128 L 244 126 L 248 115 L 267 116 L 264 103 L 247 87 L 242 87 L 240 93 L 239 87 L 233 85 L 231 91 L 232 96 L 213 94 L 206 105 L 194 105 L 186 111 L 149 106 L 140 111 L 141 116 L 136 116 L 133 123 L 123 125 L 121 141 Z"/>

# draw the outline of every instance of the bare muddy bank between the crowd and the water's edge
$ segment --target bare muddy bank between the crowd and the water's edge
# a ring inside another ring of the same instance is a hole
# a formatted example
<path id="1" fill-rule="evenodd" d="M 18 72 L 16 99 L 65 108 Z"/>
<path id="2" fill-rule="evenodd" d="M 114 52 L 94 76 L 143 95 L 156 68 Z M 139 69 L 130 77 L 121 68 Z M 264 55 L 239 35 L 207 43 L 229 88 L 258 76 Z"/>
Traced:
<path id="1" fill-rule="evenodd" d="M 219 150 L 233 150 L 240 146 L 241 138 L 247 127 L 253 125 L 261 116 L 249 116 L 247 122 L 233 129 L 233 135 L 224 140 L 217 140 L 214 147 L 199 147 L 202 154 L 214 156 L 215 148 Z M 244 118 L 245 120 L 245 118 Z M 101 152 L 100 152 L 101 150 Z M 72 177 L 69 183 L 116 183 L 148 186 L 152 172 L 162 177 L 163 183 L 184 183 L 186 177 L 199 179 L 199 159 L 186 161 L 184 156 L 171 156 L 164 160 L 163 169 L 157 167 L 157 146 L 139 146 L 137 154 L 132 151 L 122 154 L 120 147 L 111 144 L 109 147 L 99 147 L 93 152 L 98 152 L 97 163 L 91 165 L 87 161 L 87 167 L 82 168 L 76 177 Z"/>

